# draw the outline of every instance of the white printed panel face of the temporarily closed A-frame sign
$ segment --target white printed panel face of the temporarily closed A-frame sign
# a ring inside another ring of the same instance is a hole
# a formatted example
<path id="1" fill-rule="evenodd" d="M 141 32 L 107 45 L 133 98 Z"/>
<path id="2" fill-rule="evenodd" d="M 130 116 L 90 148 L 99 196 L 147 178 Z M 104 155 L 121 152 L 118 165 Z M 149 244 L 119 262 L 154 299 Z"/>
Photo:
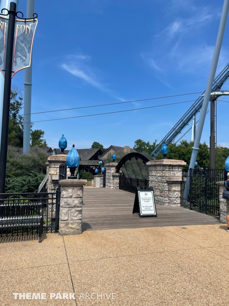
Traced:
<path id="1" fill-rule="evenodd" d="M 138 191 L 138 198 L 141 215 L 156 215 L 154 195 L 152 191 Z"/>

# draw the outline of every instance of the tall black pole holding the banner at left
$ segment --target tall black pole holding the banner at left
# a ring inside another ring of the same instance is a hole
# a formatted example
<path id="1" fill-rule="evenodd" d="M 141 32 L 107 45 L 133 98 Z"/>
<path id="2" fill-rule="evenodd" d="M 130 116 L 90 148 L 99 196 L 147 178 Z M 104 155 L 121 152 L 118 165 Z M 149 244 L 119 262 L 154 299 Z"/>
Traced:
<path id="1" fill-rule="evenodd" d="M 16 3 L 10 2 L 9 6 L 9 25 L 7 34 L 6 56 L 5 56 L 5 82 L 2 109 L 2 135 L 1 135 L 1 151 L 0 151 L 0 193 L 5 192 L 5 173 L 9 128 L 9 104 L 11 90 L 11 76 L 13 63 L 13 41 L 16 17 Z"/>

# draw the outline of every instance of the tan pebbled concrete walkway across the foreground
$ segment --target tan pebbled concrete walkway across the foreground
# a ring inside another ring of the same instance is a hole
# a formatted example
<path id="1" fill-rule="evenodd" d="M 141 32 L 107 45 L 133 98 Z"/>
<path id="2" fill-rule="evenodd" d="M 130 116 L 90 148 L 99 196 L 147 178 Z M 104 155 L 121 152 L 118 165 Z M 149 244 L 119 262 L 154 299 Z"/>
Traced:
<path id="1" fill-rule="evenodd" d="M 50 233 L 42 239 L 0 238 L 1 306 L 228 305 L 226 225 Z M 50 300 L 50 293 L 60 298 L 73 292 L 76 300 Z M 46 293 L 46 300 L 14 300 L 13 293 Z"/>

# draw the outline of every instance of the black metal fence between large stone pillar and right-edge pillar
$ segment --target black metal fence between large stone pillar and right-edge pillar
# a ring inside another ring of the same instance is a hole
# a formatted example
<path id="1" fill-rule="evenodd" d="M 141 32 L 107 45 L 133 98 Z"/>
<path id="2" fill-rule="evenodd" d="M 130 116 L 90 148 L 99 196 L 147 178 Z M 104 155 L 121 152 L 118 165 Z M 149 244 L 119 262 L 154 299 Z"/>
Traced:
<path id="1" fill-rule="evenodd" d="M 180 205 L 215 217 L 220 216 L 219 187 L 224 181 L 223 169 L 183 169 Z"/>

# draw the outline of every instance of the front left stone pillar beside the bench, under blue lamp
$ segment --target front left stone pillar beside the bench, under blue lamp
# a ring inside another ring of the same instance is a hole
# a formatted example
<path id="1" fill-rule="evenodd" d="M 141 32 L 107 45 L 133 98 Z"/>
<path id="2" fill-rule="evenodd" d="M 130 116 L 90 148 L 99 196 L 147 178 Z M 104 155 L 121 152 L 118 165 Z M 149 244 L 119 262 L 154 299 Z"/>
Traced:
<path id="1" fill-rule="evenodd" d="M 82 233 L 83 180 L 60 180 L 59 235 Z"/>

